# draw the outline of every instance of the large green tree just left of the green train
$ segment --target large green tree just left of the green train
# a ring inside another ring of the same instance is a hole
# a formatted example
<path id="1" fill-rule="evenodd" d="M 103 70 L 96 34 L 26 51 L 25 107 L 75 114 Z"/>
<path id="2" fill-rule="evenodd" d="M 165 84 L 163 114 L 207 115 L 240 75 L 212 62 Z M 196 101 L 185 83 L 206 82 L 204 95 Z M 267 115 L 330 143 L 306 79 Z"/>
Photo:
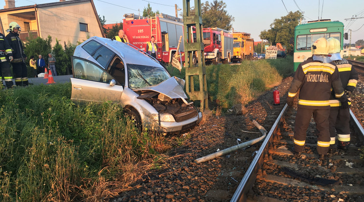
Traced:
<path id="1" fill-rule="evenodd" d="M 287 52 L 292 54 L 293 46 L 290 44 L 290 39 L 295 36 L 295 27 L 302 17 L 301 12 L 296 11 L 293 13 L 291 11 L 287 16 L 273 20 L 271 29 L 261 31 L 259 37 L 260 39 L 270 41 L 273 45 L 281 43 L 287 47 Z"/>

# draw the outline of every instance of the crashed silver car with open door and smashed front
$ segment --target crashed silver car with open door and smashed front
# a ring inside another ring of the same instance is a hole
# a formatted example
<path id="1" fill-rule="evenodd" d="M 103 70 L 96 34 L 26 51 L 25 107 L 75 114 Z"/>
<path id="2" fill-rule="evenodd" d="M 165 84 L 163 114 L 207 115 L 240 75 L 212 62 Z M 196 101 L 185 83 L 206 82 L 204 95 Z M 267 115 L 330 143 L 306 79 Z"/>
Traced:
<path id="1" fill-rule="evenodd" d="M 119 103 L 140 130 L 176 134 L 202 120 L 184 80 L 129 43 L 92 37 L 76 47 L 72 70 L 71 100 Z"/>

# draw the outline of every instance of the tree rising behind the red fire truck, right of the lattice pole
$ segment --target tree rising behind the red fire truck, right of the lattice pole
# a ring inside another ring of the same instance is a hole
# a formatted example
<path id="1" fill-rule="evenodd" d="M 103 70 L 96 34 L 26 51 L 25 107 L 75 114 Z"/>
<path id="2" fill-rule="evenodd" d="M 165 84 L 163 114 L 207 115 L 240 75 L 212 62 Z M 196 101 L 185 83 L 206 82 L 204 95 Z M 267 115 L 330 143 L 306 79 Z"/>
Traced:
<path id="1" fill-rule="evenodd" d="M 206 1 L 201 3 L 201 15 L 204 27 L 218 27 L 230 30 L 234 21 L 234 17 L 228 15 L 226 3 L 222 0 L 214 0 L 212 3 Z"/>

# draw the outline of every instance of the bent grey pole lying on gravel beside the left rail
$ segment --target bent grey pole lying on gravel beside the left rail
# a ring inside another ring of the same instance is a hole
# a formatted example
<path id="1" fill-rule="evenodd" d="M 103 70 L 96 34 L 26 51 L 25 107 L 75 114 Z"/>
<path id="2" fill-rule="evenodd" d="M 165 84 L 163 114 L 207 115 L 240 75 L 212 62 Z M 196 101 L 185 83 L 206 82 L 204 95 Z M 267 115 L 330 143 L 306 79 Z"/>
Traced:
<path id="1" fill-rule="evenodd" d="M 260 132 L 263 134 L 261 137 L 257 138 L 257 139 L 254 139 L 254 140 L 251 140 L 251 141 L 247 141 L 247 142 L 244 142 L 244 143 L 241 143 L 241 144 L 238 144 L 238 145 L 235 145 L 235 146 L 232 146 L 232 147 L 229 147 L 229 148 L 226 148 L 224 150 L 221 150 L 221 151 L 218 151 L 218 152 L 215 152 L 213 154 L 209 154 L 207 156 L 204 156 L 204 157 L 201 157 L 199 159 L 196 159 L 195 162 L 197 163 L 200 163 L 200 162 L 206 162 L 208 160 L 211 160 L 211 159 L 215 159 L 216 157 L 220 157 L 222 155 L 225 155 L 225 154 L 228 154 L 232 151 L 235 151 L 237 149 L 241 149 L 241 148 L 244 148 L 244 147 L 247 147 L 247 146 L 250 146 L 250 145 L 253 145 L 259 141 L 262 141 L 264 140 L 264 138 L 267 136 L 267 131 L 264 129 L 263 126 L 259 125 L 258 122 L 256 122 L 255 120 L 253 121 L 253 124 L 260 130 Z"/>

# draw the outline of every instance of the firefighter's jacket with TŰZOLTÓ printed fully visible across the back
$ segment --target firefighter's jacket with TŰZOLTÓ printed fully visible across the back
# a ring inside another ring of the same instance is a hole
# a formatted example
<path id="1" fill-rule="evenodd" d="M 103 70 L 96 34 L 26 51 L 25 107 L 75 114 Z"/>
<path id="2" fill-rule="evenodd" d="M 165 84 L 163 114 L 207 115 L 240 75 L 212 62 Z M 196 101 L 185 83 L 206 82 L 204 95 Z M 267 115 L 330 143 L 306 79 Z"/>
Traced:
<path id="1" fill-rule="evenodd" d="M 298 65 L 287 101 L 293 101 L 299 90 L 299 107 L 328 109 L 330 108 L 331 86 L 335 90 L 335 97 L 340 101 L 346 101 L 335 63 L 314 61 L 313 57 L 310 57 Z"/>

